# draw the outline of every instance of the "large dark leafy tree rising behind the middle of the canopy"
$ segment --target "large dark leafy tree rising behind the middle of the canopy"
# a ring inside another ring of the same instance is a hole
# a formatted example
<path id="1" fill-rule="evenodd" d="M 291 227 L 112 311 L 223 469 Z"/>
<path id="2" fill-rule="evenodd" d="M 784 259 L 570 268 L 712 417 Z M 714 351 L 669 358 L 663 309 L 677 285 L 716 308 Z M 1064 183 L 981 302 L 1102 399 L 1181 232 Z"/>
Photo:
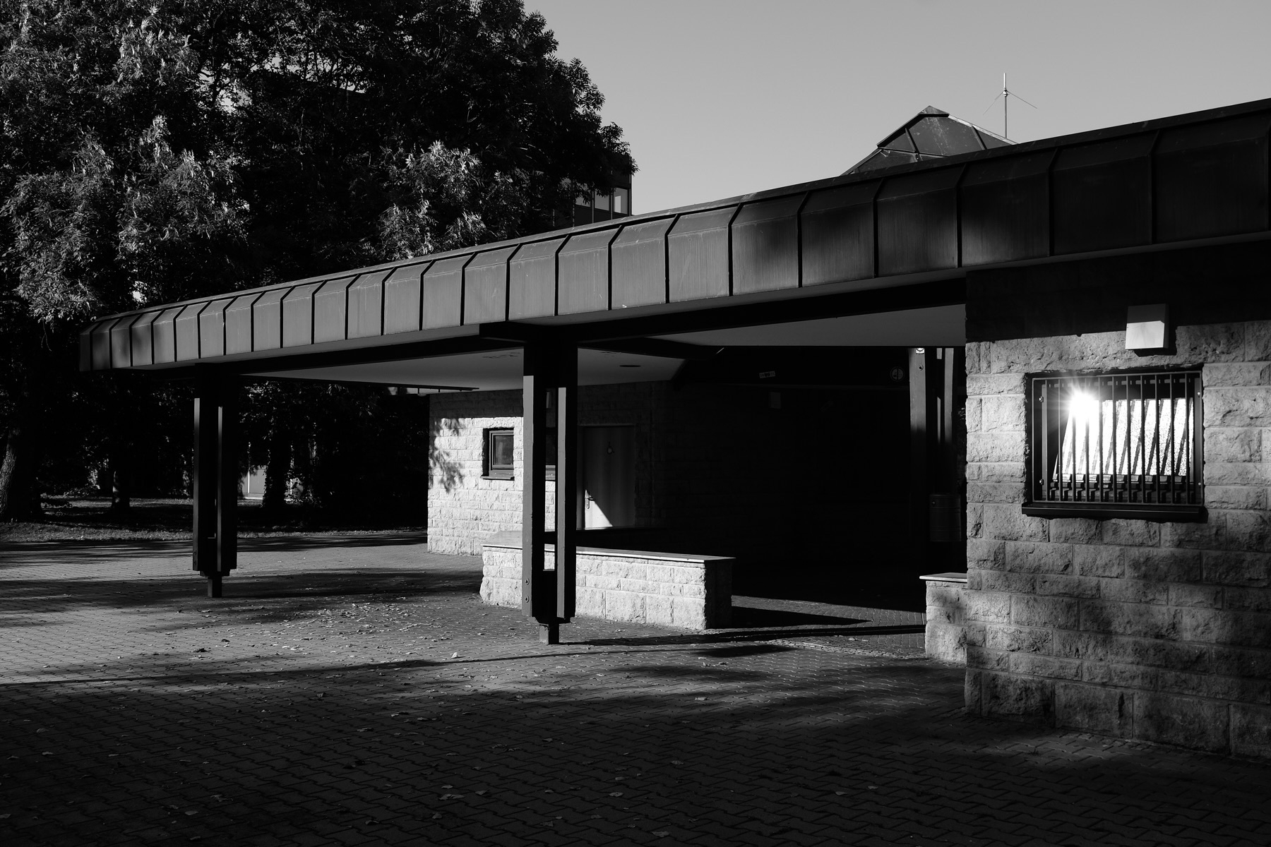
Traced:
<path id="1" fill-rule="evenodd" d="M 210 25 L 196 38 L 215 97 L 234 104 L 261 281 L 550 229 L 572 207 L 571 184 L 604 189 L 634 170 L 620 130 L 601 124 L 586 70 L 555 57 L 543 18 L 519 0 L 276 11 L 239 6 L 238 34 Z M 367 392 L 285 383 L 249 392 L 247 405 L 268 422 L 254 427 L 253 461 L 267 469 L 273 508 L 319 422 L 379 413 Z M 313 443 L 315 461 L 297 475 L 311 498 L 339 502 L 323 471 L 350 447 Z"/>

